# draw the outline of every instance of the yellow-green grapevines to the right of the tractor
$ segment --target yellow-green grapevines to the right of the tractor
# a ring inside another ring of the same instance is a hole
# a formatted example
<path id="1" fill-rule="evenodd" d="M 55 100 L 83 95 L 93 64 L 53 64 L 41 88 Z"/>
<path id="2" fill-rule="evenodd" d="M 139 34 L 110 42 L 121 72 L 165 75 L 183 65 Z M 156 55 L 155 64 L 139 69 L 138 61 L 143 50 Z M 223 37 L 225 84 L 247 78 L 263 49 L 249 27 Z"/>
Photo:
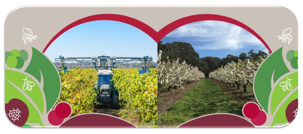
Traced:
<path id="1" fill-rule="evenodd" d="M 138 69 L 113 69 L 113 81 L 127 109 L 133 109 L 137 121 L 158 123 L 158 78 L 157 69 L 151 73 L 139 74 Z M 122 115 L 123 116 L 123 115 Z"/>

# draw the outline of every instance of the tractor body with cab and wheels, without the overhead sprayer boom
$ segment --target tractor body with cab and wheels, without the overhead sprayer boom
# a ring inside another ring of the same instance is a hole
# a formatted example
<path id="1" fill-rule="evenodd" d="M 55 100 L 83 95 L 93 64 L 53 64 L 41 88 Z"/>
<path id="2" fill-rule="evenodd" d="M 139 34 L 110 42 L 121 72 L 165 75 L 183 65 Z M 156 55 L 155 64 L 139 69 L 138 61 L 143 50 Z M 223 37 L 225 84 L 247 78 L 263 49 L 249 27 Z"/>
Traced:
<path id="1" fill-rule="evenodd" d="M 114 107 L 118 106 L 118 90 L 114 86 L 112 70 L 99 70 L 94 89 L 99 95 L 97 101 L 100 103 L 112 103 Z"/>

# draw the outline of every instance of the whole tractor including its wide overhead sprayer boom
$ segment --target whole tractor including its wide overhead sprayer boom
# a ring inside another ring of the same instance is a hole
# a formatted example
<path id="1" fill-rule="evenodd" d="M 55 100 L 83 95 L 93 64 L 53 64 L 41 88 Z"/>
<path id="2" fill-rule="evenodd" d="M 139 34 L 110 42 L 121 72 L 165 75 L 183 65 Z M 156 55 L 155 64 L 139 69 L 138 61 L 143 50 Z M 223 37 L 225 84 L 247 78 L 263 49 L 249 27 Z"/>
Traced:
<path id="1" fill-rule="evenodd" d="M 68 57 L 59 56 L 59 58 L 55 58 L 55 61 L 60 61 L 62 68 L 64 68 L 64 72 L 68 72 L 67 67 L 64 66 L 65 62 L 85 62 L 95 65 L 95 69 L 97 72 L 97 81 L 94 87 L 95 91 L 98 91 L 97 101 L 99 103 L 110 103 L 114 108 L 118 108 L 118 97 L 119 92 L 115 88 L 114 81 L 111 81 L 113 72 L 112 69 L 117 68 L 115 65 L 124 62 L 143 62 L 141 69 L 139 70 L 139 74 L 150 72 L 148 66 L 146 66 L 147 62 L 151 62 L 152 58 L 148 56 L 144 57 L 117 57 L 117 56 L 92 56 L 92 57 Z M 61 70 L 58 70 L 61 71 Z"/>

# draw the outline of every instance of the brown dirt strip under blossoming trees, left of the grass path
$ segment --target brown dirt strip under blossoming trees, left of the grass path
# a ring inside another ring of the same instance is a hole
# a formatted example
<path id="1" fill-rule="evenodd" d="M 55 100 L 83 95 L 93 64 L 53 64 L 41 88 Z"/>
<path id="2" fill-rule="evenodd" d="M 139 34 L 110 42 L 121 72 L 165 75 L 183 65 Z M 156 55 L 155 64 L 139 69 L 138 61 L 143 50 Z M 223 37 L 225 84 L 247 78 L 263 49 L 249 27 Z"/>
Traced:
<path id="1" fill-rule="evenodd" d="M 187 83 L 183 85 L 183 89 L 181 87 L 177 87 L 171 88 L 170 91 L 161 90 L 158 94 L 158 114 L 164 113 L 173 104 L 175 104 L 176 101 L 182 99 L 184 94 L 195 88 L 201 82 L 201 80 L 202 79 Z"/>

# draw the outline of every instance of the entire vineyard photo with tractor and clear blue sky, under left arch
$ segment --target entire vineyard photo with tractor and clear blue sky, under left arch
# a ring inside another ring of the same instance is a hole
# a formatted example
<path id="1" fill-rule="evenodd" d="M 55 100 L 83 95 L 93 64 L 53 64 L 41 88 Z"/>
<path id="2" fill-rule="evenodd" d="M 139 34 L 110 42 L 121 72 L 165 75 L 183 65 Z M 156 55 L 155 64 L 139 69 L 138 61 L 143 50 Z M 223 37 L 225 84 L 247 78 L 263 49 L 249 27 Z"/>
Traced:
<path id="1" fill-rule="evenodd" d="M 157 127 L 157 43 L 143 31 L 117 21 L 87 22 L 60 35 L 45 55 L 60 74 L 57 103 L 69 103 L 71 116 L 103 113 Z"/>

